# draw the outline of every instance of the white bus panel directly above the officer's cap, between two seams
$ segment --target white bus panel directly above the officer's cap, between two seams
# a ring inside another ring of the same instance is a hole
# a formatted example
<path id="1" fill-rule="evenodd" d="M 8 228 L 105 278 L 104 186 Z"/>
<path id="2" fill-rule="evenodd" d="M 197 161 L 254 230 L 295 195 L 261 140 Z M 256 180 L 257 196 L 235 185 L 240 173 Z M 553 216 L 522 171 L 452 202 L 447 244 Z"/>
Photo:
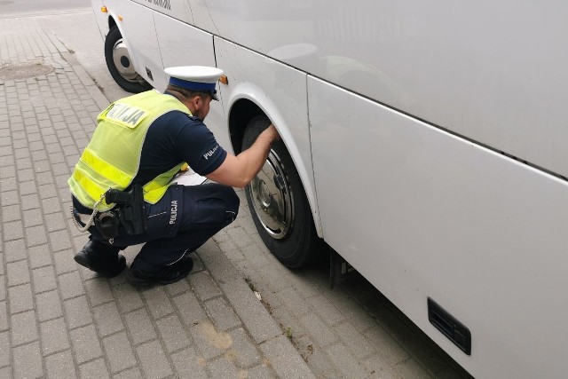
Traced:
<path id="1" fill-rule="evenodd" d="M 162 67 L 216 66 L 213 36 L 209 33 L 161 13 L 154 14 L 154 22 L 162 53 Z M 155 88 L 163 91 L 167 85 L 166 79 L 164 76 L 163 83 Z"/>

